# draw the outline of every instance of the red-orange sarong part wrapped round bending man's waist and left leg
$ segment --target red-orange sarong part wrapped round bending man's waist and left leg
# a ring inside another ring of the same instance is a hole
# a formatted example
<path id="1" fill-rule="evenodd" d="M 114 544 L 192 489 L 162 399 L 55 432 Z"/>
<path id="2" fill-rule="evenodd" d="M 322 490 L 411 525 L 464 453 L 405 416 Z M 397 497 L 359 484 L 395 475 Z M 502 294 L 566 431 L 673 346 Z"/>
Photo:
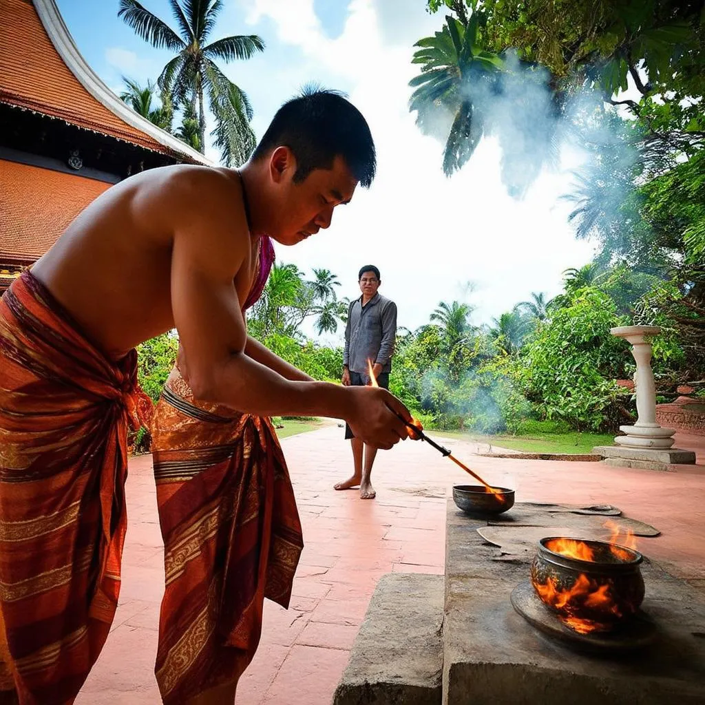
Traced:
<path id="1" fill-rule="evenodd" d="M 0 690 L 20 705 L 73 701 L 108 635 L 128 423 L 150 407 L 136 370 L 29 272 L 0 299 Z"/>

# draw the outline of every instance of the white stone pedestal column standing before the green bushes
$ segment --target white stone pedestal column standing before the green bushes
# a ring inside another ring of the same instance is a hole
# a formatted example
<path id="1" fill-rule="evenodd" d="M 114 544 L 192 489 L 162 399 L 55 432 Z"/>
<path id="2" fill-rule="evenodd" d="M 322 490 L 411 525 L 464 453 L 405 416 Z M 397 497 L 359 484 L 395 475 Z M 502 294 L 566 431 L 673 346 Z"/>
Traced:
<path id="1" fill-rule="evenodd" d="M 664 429 L 656 423 L 656 385 L 651 372 L 651 343 L 646 336 L 661 333 L 658 326 L 623 326 L 610 331 L 613 336 L 625 338 L 632 344 L 632 355 L 637 362 L 634 375 L 637 395 L 637 422 L 633 426 L 620 426 L 626 436 L 617 436 L 615 443 L 630 448 L 670 448 L 675 429 Z"/>

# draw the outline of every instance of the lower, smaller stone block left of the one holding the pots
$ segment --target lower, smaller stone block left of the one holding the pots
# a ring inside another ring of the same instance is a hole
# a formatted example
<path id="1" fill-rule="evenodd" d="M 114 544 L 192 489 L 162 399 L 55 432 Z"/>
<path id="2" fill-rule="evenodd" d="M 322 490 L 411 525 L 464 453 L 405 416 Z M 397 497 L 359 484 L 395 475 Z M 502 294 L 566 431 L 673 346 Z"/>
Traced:
<path id="1" fill-rule="evenodd" d="M 379 580 L 333 705 L 440 705 L 443 576 Z"/>

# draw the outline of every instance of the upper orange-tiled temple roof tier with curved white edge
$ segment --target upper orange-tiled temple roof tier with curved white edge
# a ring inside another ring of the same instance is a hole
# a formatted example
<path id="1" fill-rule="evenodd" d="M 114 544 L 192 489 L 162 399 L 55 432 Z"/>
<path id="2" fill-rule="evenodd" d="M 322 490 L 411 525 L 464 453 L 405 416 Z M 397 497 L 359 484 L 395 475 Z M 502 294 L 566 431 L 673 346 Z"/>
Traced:
<path id="1" fill-rule="evenodd" d="M 111 92 L 79 53 L 54 0 L 0 0 L 0 27 L 0 102 L 177 161 L 211 164 Z"/>

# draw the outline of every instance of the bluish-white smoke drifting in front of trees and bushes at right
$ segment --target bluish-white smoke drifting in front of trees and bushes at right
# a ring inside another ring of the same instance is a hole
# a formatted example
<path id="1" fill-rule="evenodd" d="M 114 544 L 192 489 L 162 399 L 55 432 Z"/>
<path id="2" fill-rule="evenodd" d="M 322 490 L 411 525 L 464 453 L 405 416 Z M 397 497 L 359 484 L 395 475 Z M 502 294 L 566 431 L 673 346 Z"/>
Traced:
<path id="1" fill-rule="evenodd" d="M 498 141 L 501 179 L 517 200 L 526 197 L 542 171 L 563 170 L 566 153 L 573 161 L 579 157 L 581 166 L 565 179 L 563 197 L 573 205 L 576 234 L 597 238 L 603 245 L 609 237 L 622 238 L 618 247 L 628 251 L 634 215 L 625 215 L 625 202 L 634 192 L 641 156 L 634 124 L 615 109 L 606 109 L 603 94 L 596 90 L 554 88 L 547 70 L 510 53 L 501 72 L 471 72 L 458 104 L 463 100 L 472 104 L 474 133 L 479 130 L 483 138 Z M 436 103 L 417 116 L 417 123 L 445 145 L 454 118 L 453 112 Z M 439 363 L 425 372 L 420 388 L 424 408 L 435 411 L 441 427 L 457 427 L 460 422 L 493 433 L 531 414 L 529 402 L 507 376 L 483 372 L 477 362 L 455 374 Z"/>

